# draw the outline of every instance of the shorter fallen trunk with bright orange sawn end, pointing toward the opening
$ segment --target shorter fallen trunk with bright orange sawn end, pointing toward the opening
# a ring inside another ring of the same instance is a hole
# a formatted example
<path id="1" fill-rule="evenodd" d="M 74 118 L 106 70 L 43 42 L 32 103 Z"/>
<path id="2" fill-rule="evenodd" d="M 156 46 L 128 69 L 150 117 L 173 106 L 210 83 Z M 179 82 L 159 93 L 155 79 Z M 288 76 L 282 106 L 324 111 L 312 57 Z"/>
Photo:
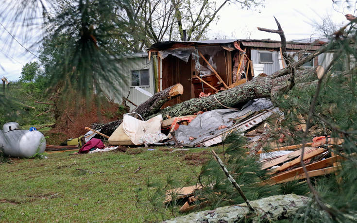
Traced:
<path id="1" fill-rule="evenodd" d="M 170 101 L 171 99 L 181 95 L 184 92 L 184 87 L 181 84 L 176 84 L 170 86 L 162 91 L 155 93 L 151 98 L 146 102 L 139 104 L 133 112 L 140 114 L 144 120 L 147 120 L 148 117 L 157 113 L 160 110 L 161 106 Z M 118 128 L 123 120 L 115 120 L 105 124 L 93 124 L 93 129 L 101 129 L 101 133 L 105 135 L 112 135 L 112 133 Z"/>

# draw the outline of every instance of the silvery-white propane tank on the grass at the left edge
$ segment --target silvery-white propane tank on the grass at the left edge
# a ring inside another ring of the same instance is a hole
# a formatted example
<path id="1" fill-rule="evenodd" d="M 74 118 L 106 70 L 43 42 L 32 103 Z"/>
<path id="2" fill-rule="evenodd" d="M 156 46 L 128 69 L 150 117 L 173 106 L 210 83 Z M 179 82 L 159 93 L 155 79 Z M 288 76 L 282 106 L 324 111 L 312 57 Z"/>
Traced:
<path id="1" fill-rule="evenodd" d="M 20 130 L 16 122 L 8 122 L 0 130 L 0 150 L 5 155 L 29 158 L 46 149 L 46 139 L 34 127 Z"/>

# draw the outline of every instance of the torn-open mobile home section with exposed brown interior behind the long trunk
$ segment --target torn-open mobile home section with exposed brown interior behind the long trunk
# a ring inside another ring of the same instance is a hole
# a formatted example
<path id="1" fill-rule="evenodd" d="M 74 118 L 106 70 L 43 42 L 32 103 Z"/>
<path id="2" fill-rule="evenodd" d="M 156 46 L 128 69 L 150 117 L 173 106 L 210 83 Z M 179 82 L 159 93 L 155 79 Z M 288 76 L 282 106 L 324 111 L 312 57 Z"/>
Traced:
<path id="1" fill-rule="evenodd" d="M 295 60 L 308 56 L 324 42 L 287 42 L 287 53 Z M 181 103 L 221 88 L 231 88 L 250 81 L 260 73 L 271 75 L 286 67 L 282 60 L 281 42 L 269 39 L 205 40 L 191 42 L 158 42 L 148 50 L 157 55 L 158 89 L 180 83 L 184 93 L 166 103 Z M 333 53 L 325 52 L 304 67 L 326 67 Z M 201 79 L 204 81 L 202 83 Z"/>

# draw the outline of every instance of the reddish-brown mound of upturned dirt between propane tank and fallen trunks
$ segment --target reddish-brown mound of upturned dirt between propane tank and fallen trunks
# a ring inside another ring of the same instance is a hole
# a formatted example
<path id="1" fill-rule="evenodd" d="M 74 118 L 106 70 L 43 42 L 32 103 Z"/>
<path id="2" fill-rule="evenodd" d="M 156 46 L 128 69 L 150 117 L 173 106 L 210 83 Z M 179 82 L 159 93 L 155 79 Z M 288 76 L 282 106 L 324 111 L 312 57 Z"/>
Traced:
<path id="1" fill-rule="evenodd" d="M 68 138 L 83 136 L 87 132 L 85 127 L 121 119 L 125 113 L 122 105 L 105 102 L 98 106 L 95 101 L 93 99 L 90 106 L 86 106 L 85 100 L 82 103 L 57 105 L 55 126 L 46 133 L 49 136 L 47 144 L 58 145 Z"/>

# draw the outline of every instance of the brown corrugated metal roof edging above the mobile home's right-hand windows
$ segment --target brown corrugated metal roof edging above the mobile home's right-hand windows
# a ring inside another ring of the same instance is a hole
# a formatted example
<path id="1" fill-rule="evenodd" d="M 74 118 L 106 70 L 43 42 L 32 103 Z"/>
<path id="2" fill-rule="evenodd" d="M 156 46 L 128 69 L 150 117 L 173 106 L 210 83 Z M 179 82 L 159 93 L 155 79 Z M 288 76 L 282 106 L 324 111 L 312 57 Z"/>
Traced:
<path id="1" fill-rule="evenodd" d="M 262 41 L 240 41 L 243 46 L 246 47 L 260 47 L 260 48 L 280 48 L 280 41 L 277 42 L 262 42 Z M 287 49 L 290 50 L 310 50 L 316 51 L 321 47 L 321 45 L 309 45 L 309 44 L 292 44 L 287 43 Z"/>

